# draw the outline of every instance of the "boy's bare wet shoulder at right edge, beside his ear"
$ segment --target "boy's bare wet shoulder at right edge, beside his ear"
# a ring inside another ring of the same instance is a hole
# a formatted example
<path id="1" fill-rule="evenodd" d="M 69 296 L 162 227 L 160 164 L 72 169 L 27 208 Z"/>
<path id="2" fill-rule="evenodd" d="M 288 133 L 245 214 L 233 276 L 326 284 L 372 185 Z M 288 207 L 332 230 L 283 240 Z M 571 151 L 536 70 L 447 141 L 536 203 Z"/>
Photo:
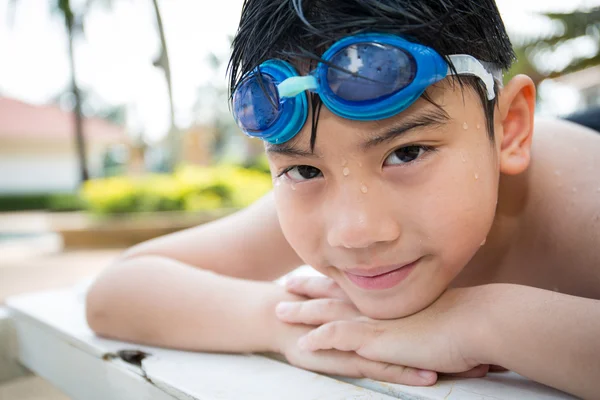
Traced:
<path id="1" fill-rule="evenodd" d="M 600 298 L 600 133 L 536 120 L 528 175 L 529 244 L 570 291 Z"/>

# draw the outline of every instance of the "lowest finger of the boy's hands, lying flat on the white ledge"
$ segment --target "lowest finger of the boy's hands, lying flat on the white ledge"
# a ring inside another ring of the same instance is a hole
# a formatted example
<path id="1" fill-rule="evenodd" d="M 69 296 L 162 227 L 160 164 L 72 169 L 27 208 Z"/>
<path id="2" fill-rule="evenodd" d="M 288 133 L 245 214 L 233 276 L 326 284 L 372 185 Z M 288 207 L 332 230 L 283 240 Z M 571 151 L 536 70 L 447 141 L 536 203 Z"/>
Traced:
<path id="1" fill-rule="evenodd" d="M 369 378 L 411 386 L 430 386 L 437 381 L 434 371 L 371 361 L 353 352 L 325 350 L 303 352 L 294 365 L 330 375 Z"/>

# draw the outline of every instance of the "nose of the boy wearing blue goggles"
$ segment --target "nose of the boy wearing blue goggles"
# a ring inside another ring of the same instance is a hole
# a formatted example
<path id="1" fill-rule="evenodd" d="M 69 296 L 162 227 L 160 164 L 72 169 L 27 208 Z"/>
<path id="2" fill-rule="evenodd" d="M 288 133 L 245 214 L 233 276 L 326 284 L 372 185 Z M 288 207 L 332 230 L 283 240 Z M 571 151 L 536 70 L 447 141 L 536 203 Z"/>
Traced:
<path id="1" fill-rule="evenodd" d="M 396 213 L 375 190 L 339 193 L 327 213 L 327 240 L 332 247 L 363 249 L 393 242 L 401 235 Z"/>

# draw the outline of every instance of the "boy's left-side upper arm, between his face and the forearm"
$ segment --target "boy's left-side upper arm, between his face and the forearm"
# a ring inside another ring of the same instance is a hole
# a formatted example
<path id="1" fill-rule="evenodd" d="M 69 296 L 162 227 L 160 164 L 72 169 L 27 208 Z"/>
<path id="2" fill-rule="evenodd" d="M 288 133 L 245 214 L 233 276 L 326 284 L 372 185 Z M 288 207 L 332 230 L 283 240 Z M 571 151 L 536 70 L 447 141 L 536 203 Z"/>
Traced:
<path id="1" fill-rule="evenodd" d="M 302 264 L 283 236 L 273 193 L 228 217 L 133 246 L 121 260 L 146 255 L 163 256 L 223 275 L 265 281 L 279 278 Z"/>

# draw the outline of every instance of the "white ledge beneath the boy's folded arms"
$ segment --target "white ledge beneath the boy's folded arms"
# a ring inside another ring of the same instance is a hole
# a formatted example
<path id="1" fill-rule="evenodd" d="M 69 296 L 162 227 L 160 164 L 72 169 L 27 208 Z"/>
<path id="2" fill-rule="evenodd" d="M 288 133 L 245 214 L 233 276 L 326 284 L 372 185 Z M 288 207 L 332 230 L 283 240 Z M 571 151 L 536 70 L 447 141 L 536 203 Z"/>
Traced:
<path id="1" fill-rule="evenodd" d="M 327 377 L 257 354 L 168 350 L 99 338 L 81 286 L 8 299 L 19 359 L 77 399 L 523 399 L 573 397 L 514 373 L 443 380 L 427 388 Z M 149 355 L 124 361 L 124 351 Z"/>

